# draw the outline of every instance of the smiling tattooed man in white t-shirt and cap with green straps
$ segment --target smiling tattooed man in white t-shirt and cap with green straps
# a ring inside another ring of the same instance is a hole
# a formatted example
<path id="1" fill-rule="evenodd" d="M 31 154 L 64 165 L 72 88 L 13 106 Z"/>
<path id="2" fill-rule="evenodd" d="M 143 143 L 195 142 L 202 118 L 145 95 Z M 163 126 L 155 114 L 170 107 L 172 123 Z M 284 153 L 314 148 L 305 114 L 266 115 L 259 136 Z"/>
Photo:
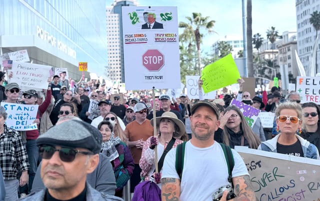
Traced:
<path id="1" fill-rule="evenodd" d="M 212 194 L 228 183 L 228 167 L 222 147 L 213 140 L 219 127 L 219 109 L 208 101 L 198 101 L 191 107 L 192 138 L 185 144 L 182 178 L 175 169 L 176 148 L 165 156 L 162 177 L 162 200 L 212 200 Z M 232 170 L 235 200 L 256 200 L 247 168 L 233 149 Z M 227 191 L 220 200 L 226 200 Z M 234 199 L 232 199 L 234 200 Z"/>

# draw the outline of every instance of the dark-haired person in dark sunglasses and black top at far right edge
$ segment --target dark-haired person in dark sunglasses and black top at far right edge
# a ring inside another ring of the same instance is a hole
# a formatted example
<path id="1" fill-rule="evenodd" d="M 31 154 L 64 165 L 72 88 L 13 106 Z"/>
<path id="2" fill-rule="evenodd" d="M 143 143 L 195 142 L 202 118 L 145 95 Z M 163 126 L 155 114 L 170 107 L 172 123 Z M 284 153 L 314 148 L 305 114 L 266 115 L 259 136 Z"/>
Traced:
<path id="1" fill-rule="evenodd" d="M 314 102 L 305 102 L 302 105 L 303 123 L 301 137 L 314 144 L 320 150 L 320 109 Z"/>

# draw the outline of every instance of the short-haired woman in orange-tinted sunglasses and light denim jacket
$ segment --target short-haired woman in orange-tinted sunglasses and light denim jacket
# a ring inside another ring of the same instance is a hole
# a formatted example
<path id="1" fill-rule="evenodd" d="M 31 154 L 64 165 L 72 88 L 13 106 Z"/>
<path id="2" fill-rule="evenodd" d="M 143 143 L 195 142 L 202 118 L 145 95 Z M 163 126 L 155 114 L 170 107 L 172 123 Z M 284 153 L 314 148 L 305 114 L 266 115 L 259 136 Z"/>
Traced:
<path id="1" fill-rule="evenodd" d="M 283 102 L 276 108 L 275 116 L 276 128 L 280 133 L 272 139 L 261 142 L 258 149 L 320 159 L 316 146 L 296 134 L 296 132 L 301 133 L 302 107 L 300 104 Z"/>

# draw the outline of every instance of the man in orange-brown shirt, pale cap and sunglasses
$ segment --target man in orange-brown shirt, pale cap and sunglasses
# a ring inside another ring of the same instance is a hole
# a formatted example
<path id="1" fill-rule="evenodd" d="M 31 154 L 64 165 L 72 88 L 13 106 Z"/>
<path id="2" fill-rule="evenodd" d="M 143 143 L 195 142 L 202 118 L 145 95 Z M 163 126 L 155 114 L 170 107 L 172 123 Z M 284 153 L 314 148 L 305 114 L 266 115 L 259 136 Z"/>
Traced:
<path id="1" fill-rule="evenodd" d="M 153 127 L 150 120 L 146 119 L 148 109 L 145 104 L 138 102 L 133 108 L 135 120 L 128 123 L 124 133 L 127 137 L 127 145 L 130 148 L 131 155 L 134 161 L 133 173 L 130 177 L 130 192 L 133 192 L 134 187 L 140 182 L 141 168 L 139 161 L 141 158 L 144 141 L 153 135 Z"/>

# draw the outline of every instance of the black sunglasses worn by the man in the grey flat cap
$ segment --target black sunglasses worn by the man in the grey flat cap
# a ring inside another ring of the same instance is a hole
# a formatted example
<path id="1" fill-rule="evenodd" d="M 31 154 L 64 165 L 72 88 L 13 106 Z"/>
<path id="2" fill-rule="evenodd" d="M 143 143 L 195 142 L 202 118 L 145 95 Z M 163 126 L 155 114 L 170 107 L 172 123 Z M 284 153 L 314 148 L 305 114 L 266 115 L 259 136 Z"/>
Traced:
<path id="1" fill-rule="evenodd" d="M 57 149 L 50 145 L 41 145 L 39 147 L 39 155 L 43 159 L 50 159 L 55 151 L 59 151 L 59 157 L 64 162 L 72 162 L 75 158 L 76 153 L 82 153 L 84 155 L 93 154 L 92 152 L 88 151 L 80 151 L 73 148 L 60 148 Z"/>

